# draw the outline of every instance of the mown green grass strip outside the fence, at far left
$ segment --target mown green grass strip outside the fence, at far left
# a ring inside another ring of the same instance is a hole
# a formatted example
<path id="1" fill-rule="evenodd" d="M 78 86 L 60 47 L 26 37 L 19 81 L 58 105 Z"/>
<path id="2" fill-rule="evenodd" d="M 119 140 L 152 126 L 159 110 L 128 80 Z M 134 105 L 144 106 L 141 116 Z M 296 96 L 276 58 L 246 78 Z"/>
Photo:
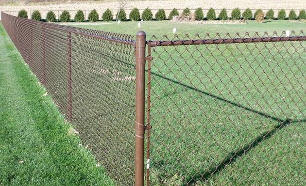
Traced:
<path id="1" fill-rule="evenodd" d="M 0 186 L 110 186 L 0 25 Z"/>

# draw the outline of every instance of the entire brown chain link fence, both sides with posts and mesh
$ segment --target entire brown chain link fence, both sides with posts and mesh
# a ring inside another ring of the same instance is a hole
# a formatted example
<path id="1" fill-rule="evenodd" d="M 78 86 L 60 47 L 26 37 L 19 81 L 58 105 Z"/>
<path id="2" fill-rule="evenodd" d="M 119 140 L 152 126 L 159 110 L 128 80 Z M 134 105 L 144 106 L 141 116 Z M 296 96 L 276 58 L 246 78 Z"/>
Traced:
<path id="1" fill-rule="evenodd" d="M 134 41 L 4 13 L 2 24 L 118 185 L 306 182 L 303 31 Z"/>

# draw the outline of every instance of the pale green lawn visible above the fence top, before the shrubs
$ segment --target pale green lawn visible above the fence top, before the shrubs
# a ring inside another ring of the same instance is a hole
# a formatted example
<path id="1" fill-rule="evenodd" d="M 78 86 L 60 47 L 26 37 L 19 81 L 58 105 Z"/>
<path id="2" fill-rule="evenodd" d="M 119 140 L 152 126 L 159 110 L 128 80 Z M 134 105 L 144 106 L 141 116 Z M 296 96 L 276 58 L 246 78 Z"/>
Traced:
<path id="1" fill-rule="evenodd" d="M 169 39 L 173 38 L 172 29 L 176 28 L 175 34 L 183 38 L 187 33 L 191 38 L 196 33 L 201 38 L 205 37 L 206 33 L 209 33 L 211 37 L 215 37 L 215 33 L 220 33 L 221 37 L 224 37 L 228 32 L 232 37 L 236 32 L 240 33 L 243 37 L 246 32 L 250 33 L 250 36 L 254 36 L 258 31 L 259 35 L 264 35 L 267 31 L 269 35 L 273 34 L 273 31 L 277 31 L 277 34 L 281 34 L 282 31 L 296 31 L 299 33 L 301 30 L 306 30 L 306 23 L 301 21 L 288 21 L 288 20 L 265 20 L 264 23 L 257 23 L 256 21 L 247 21 L 247 24 L 187 24 L 187 23 L 171 23 L 170 21 L 143 21 L 141 27 L 138 27 L 138 22 L 128 21 L 121 22 L 120 24 L 105 24 L 105 25 L 75 25 L 74 27 L 88 28 L 94 30 L 110 31 L 116 33 L 126 33 L 135 35 L 137 31 L 145 31 L 147 33 L 147 39 L 150 40 L 152 35 L 161 38 L 163 35 L 168 35 Z M 155 39 L 153 39 L 155 40 Z M 164 40 L 167 40 L 164 38 Z"/>

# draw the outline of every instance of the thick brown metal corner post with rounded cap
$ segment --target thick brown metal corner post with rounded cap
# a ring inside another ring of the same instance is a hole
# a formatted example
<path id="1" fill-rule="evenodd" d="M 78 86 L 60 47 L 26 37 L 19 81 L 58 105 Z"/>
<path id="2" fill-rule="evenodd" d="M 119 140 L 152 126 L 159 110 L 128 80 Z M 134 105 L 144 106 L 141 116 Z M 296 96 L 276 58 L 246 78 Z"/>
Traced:
<path id="1" fill-rule="evenodd" d="M 135 121 L 135 186 L 144 181 L 144 115 L 145 115 L 146 33 L 136 33 L 136 121 Z"/>

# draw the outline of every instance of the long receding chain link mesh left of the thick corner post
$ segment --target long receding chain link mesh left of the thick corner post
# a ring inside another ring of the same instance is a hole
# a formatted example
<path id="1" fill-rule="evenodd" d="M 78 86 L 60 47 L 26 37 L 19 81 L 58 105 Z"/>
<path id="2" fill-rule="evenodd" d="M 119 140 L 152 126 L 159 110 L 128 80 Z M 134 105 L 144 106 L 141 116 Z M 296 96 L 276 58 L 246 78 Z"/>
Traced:
<path id="1" fill-rule="evenodd" d="M 133 36 L 2 13 L 25 62 L 118 185 L 134 184 Z"/>

